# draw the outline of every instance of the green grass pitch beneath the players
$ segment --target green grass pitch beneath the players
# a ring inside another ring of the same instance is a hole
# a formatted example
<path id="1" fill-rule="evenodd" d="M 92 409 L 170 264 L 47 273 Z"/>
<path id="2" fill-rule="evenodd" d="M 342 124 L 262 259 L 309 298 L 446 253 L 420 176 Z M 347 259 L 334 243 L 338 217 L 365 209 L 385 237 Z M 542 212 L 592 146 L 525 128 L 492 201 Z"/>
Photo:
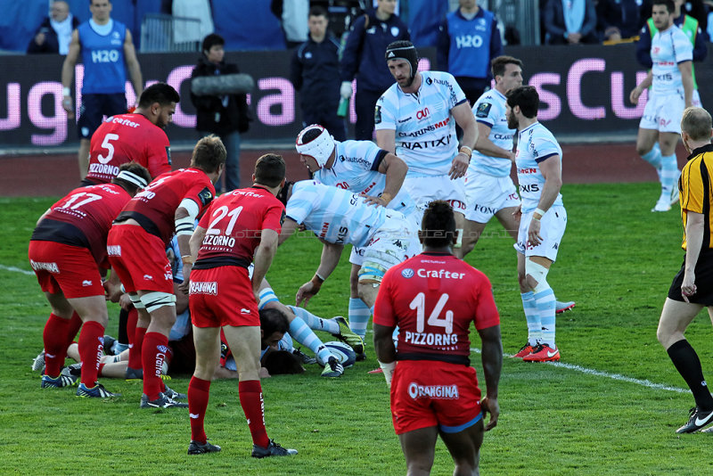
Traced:
<path id="1" fill-rule="evenodd" d="M 561 300 L 577 300 L 558 318 L 562 363 L 524 364 L 505 358 L 500 385 L 500 422 L 482 448 L 483 474 L 706 474 L 708 435 L 677 436 L 693 398 L 688 392 L 619 382 L 580 369 L 684 389 L 656 325 L 668 285 L 680 267 L 681 225 L 676 210 L 652 214 L 658 186 L 565 185 L 569 222 L 548 281 Z M 299 376 L 263 381 L 266 424 L 271 437 L 296 447 L 289 459 L 258 461 L 250 455 L 250 433 L 234 381 L 211 386 L 206 431 L 221 445 L 217 455 L 188 456 L 187 412 L 138 407 L 136 382 L 103 383 L 123 393 L 114 401 L 86 401 L 73 390 L 40 390 L 29 370 L 42 349 L 48 314 L 29 271 L 27 242 L 50 199 L 0 199 L 4 224 L 0 247 L 0 465 L 2 473 L 89 474 L 403 474 L 405 464 L 389 416 L 383 377 L 373 352 L 338 380 L 319 377 L 314 365 Z M 292 303 L 299 285 L 314 273 L 320 246 L 311 238 L 291 239 L 278 250 L 268 279 L 281 300 Z M 345 252 L 346 254 L 346 252 Z M 490 278 L 501 312 L 506 353 L 524 343 L 512 240 L 496 223 L 488 226 L 467 260 Z M 348 259 L 309 303 L 321 316 L 346 315 Z M 116 333 L 111 307 L 109 333 Z M 368 334 L 371 337 L 371 334 Z M 331 340 L 324 335 L 325 340 Z M 688 338 L 704 371 L 713 371 L 713 337 L 702 313 Z M 474 339 L 474 348 L 479 341 Z M 472 361 L 480 368 L 479 355 Z M 188 378 L 171 386 L 185 391 Z M 450 474 L 453 464 L 438 443 L 433 474 Z"/>

